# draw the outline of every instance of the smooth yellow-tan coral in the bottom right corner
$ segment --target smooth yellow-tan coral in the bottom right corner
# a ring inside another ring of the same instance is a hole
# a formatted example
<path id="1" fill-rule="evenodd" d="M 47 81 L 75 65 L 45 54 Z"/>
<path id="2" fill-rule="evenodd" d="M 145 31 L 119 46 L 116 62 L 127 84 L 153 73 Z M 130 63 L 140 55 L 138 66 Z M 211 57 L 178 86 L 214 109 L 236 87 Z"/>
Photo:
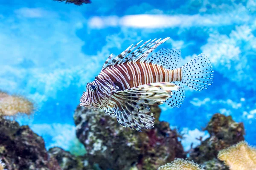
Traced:
<path id="1" fill-rule="evenodd" d="M 245 141 L 221 150 L 218 159 L 224 161 L 230 170 L 256 170 L 256 148 Z"/>

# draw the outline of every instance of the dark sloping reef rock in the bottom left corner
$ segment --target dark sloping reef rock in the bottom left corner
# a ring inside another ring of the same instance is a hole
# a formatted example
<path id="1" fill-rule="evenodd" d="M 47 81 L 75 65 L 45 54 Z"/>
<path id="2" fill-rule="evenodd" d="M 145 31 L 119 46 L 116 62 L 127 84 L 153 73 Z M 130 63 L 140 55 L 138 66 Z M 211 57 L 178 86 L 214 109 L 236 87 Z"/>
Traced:
<path id="1" fill-rule="evenodd" d="M 29 126 L 0 117 L 0 162 L 7 170 L 61 170 Z"/>

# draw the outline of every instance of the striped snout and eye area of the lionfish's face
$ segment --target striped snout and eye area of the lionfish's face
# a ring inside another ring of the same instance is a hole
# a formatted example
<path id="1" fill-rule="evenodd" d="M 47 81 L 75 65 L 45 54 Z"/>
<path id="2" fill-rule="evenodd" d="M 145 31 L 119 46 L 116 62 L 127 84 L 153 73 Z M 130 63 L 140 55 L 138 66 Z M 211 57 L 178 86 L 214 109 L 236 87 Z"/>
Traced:
<path id="1" fill-rule="evenodd" d="M 94 111 L 100 108 L 99 103 L 95 97 L 97 88 L 98 86 L 94 81 L 87 83 L 86 92 L 84 91 L 83 95 L 80 98 L 80 106 L 84 106 L 85 108 L 89 109 L 92 108 Z"/>

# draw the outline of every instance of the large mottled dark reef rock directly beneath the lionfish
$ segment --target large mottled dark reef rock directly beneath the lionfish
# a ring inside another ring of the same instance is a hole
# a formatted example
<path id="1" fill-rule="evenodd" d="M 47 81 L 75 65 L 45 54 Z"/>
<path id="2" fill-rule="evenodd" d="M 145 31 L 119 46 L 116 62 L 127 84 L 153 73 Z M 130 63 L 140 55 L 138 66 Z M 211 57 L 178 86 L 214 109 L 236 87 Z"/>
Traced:
<path id="1" fill-rule="evenodd" d="M 153 170 L 175 158 L 185 158 L 179 134 L 169 123 L 160 122 L 160 108 L 155 114 L 154 129 L 138 132 L 122 127 L 116 117 L 78 106 L 74 114 L 76 135 L 87 150 L 90 164 L 102 170 Z"/>

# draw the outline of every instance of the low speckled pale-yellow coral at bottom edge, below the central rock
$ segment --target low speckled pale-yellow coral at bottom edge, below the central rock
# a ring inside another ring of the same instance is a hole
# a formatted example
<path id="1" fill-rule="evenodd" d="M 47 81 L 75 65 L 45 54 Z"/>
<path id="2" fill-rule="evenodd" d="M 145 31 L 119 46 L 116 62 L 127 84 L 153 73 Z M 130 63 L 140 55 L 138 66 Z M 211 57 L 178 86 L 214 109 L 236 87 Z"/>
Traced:
<path id="1" fill-rule="evenodd" d="M 193 161 L 176 158 L 172 163 L 165 164 L 158 170 L 204 170 L 200 165 Z"/>

